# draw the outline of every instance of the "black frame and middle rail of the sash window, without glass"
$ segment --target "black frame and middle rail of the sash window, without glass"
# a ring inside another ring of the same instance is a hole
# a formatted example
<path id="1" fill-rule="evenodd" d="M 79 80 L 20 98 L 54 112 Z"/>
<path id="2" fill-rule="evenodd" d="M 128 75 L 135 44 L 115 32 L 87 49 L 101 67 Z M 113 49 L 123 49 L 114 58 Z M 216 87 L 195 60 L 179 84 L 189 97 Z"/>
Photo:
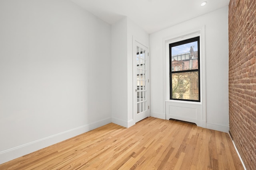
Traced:
<path id="1" fill-rule="evenodd" d="M 192 69 L 192 70 L 180 70 L 180 71 L 172 71 L 172 47 L 178 46 L 178 45 L 183 45 L 186 43 L 191 43 L 197 41 L 198 45 L 198 69 Z M 170 52 L 170 100 L 180 100 L 180 101 L 188 101 L 188 102 L 201 102 L 201 88 L 200 88 L 200 36 L 190 38 L 190 39 L 185 39 L 182 41 L 178 41 L 175 43 L 170 43 L 169 44 L 169 52 Z M 198 100 L 190 100 L 190 99 L 177 99 L 177 98 L 172 98 L 172 74 L 174 73 L 182 73 L 182 72 L 198 72 Z"/>

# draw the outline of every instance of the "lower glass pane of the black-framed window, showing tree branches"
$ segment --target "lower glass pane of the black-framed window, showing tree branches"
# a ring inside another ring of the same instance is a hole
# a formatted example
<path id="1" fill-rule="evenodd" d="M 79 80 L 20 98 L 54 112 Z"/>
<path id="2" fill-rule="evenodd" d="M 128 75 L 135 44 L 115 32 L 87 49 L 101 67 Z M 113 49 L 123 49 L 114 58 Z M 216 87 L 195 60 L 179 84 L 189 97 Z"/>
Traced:
<path id="1" fill-rule="evenodd" d="M 172 98 L 199 100 L 198 71 L 172 73 Z"/>

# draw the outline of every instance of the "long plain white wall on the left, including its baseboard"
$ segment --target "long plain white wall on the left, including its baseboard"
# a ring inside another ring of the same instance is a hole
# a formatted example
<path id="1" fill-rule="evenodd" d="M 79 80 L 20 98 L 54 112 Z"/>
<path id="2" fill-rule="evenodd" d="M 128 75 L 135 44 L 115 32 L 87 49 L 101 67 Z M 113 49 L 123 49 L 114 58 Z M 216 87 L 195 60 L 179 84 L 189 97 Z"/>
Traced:
<path id="1" fill-rule="evenodd" d="M 70 0 L 0 1 L 0 164 L 111 122 L 111 26 Z"/>

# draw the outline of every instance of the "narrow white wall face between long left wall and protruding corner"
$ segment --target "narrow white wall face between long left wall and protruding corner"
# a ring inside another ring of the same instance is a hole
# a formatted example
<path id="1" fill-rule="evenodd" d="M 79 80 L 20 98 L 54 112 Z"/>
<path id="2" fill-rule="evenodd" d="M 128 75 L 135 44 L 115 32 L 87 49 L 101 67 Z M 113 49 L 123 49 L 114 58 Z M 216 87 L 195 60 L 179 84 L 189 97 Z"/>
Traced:
<path id="1" fill-rule="evenodd" d="M 127 125 L 127 18 L 111 27 L 112 122 Z"/>

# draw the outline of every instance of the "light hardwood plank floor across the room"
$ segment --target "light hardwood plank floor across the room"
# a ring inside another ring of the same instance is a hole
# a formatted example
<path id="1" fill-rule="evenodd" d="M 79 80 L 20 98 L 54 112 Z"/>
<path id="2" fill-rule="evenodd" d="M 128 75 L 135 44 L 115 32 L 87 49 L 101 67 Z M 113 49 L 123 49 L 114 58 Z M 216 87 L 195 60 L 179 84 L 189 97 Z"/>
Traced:
<path id="1" fill-rule="evenodd" d="M 228 133 L 148 117 L 110 123 L 0 165 L 0 170 L 243 170 Z"/>

